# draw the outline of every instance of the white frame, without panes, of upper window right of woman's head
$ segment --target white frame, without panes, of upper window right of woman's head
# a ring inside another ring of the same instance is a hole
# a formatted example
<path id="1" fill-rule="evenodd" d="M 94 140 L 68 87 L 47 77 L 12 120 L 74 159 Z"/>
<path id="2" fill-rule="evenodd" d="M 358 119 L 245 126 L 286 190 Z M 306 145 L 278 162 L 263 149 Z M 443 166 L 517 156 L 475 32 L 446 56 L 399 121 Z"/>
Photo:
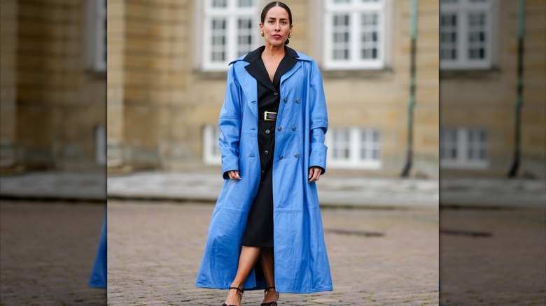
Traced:
<path id="1" fill-rule="evenodd" d="M 385 67 L 387 54 L 388 29 L 386 17 L 390 8 L 389 0 L 379 0 L 377 3 L 364 3 L 361 0 L 349 0 L 349 3 L 334 3 L 334 0 L 324 0 L 324 55 L 323 66 L 327 70 L 356 70 L 356 69 L 382 69 Z M 333 16 L 346 13 L 350 16 L 350 50 L 349 60 L 332 59 L 332 31 Z M 360 15 L 363 13 L 377 13 L 378 22 L 378 51 L 377 59 L 360 59 Z"/>

